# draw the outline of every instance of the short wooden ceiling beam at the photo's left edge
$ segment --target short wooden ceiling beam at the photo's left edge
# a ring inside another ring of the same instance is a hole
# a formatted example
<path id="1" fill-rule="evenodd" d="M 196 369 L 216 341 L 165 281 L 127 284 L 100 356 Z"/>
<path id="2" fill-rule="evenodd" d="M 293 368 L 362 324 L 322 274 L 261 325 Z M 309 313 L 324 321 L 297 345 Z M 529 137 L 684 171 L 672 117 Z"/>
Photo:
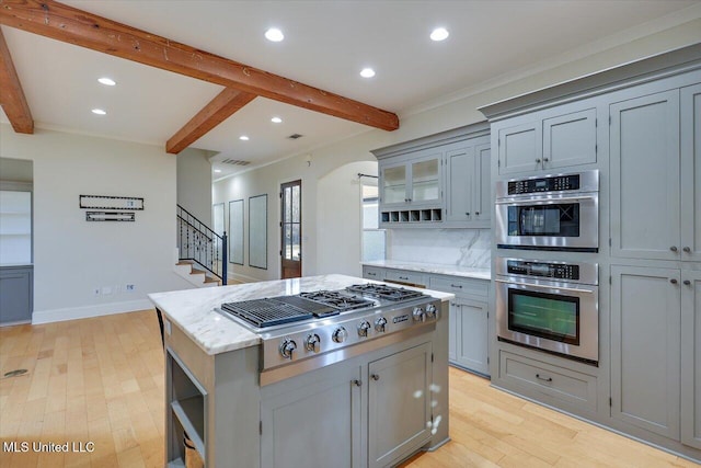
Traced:
<path id="1" fill-rule="evenodd" d="M 34 119 L 22 83 L 14 69 L 10 49 L 0 30 L 0 105 L 19 134 L 33 134 Z"/>

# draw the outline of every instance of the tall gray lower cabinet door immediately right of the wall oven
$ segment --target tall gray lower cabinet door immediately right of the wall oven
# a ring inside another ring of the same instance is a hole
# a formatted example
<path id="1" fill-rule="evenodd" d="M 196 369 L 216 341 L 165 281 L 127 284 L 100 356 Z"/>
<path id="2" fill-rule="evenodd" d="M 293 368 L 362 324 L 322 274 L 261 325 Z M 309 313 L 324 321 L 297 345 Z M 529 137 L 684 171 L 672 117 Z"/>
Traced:
<path id="1" fill-rule="evenodd" d="M 679 441 L 680 272 L 611 266 L 611 415 Z"/>

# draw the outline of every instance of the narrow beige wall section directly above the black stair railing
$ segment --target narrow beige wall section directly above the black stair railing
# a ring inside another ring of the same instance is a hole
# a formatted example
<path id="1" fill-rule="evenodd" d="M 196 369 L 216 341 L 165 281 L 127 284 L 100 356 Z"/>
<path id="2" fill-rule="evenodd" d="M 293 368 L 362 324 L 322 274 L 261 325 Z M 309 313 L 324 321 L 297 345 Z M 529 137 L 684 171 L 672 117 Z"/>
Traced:
<path id="1" fill-rule="evenodd" d="M 207 151 L 187 148 L 177 155 L 177 204 L 212 228 L 211 164 Z"/>

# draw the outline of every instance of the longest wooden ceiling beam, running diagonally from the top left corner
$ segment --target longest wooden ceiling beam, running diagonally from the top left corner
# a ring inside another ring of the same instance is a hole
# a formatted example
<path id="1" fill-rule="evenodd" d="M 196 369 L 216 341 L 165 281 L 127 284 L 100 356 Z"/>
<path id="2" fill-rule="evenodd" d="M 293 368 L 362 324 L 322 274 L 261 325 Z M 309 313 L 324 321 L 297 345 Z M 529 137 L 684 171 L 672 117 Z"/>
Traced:
<path id="1" fill-rule="evenodd" d="M 0 0 L 0 24 L 371 127 L 399 128 L 399 117 L 389 111 L 54 0 Z"/>

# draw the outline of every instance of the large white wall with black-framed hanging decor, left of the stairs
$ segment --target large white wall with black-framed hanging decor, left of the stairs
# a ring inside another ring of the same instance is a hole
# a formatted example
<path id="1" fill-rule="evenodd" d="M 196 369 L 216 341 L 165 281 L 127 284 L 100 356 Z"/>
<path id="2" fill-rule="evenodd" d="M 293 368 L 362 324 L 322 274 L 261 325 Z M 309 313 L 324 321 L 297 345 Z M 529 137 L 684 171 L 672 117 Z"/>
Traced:
<path id="1" fill-rule="evenodd" d="M 176 160 L 162 148 L 0 124 L 0 157 L 34 162 L 35 323 L 152 307 L 173 272 Z M 145 198 L 135 222 L 88 222 L 79 195 Z M 136 290 L 124 290 L 134 284 Z M 113 294 L 94 295 L 110 287 Z"/>

